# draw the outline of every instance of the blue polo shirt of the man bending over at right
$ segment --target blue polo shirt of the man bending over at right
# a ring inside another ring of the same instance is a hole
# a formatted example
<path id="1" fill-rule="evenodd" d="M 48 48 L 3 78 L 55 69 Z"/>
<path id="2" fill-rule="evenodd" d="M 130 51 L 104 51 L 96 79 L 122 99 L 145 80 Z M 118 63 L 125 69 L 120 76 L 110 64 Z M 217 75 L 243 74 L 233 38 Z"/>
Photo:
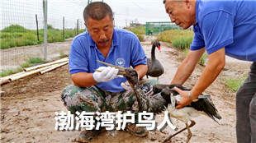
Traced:
<path id="1" fill-rule="evenodd" d="M 225 47 L 230 57 L 256 61 L 256 1 L 197 0 L 193 30 L 191 50 Z"/>

